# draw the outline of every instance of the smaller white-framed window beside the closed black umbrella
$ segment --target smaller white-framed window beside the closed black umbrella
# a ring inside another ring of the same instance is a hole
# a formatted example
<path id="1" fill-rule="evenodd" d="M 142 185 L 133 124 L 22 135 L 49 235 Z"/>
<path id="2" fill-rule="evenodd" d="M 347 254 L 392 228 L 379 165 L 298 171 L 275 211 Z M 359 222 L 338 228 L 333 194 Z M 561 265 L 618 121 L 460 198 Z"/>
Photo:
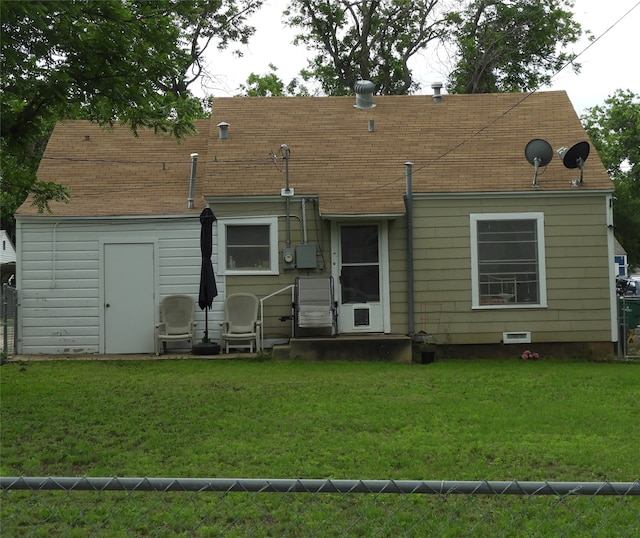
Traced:
<path id="1" fill-rule="evenodd" d="M 221 219 L 218 231 L 224 273 L 278 273 L 277 217 Z"/>

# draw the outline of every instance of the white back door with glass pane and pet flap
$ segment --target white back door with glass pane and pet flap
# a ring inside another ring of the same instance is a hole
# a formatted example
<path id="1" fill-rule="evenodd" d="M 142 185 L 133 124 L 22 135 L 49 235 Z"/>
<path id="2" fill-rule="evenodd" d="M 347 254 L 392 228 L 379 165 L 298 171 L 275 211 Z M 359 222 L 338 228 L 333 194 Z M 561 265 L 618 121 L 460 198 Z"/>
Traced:
<path id="1" fill-rule="evenodd" d="M 383 263 L 387 245 L 381 225 L 336 224 L 333 244 L 338 332 L 388 332 L 388 275 Z"/>

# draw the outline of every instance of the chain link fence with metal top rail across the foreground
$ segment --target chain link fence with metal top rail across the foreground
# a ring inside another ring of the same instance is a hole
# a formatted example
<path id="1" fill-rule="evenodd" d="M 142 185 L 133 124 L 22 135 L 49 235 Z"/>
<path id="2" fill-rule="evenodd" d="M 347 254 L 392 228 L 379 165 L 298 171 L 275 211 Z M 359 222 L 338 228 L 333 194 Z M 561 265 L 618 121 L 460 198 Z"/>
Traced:
<path id="1" fill-rule="evenodd" d="M 0 478 L 4 536 L 640 535 L 640 481 Z"/>

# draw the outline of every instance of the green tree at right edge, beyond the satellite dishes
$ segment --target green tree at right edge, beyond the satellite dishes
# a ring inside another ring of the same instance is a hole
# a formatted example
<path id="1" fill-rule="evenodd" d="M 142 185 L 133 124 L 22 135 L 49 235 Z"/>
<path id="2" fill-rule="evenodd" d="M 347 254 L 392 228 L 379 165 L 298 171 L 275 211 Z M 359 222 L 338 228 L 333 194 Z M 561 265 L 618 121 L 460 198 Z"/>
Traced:
<path id="1" fill-rule="evenodd" d="M 616 238 L 640 266 L 640 95 L 617 90 L 581 119 L 615 185 Z"/>

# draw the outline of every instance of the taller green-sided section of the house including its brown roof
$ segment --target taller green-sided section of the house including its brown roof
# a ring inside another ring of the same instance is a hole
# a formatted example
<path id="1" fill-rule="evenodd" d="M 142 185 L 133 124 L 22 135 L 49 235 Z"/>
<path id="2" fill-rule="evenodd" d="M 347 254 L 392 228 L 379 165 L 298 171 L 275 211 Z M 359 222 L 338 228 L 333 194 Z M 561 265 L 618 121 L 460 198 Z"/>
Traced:
<path id="1" fill-rule="evenodd" d="M 222 239 L 220 270 L 229 291 L 269 297 L 266 334 L 291 334 L 286 287 L 312 274 L 334 279 L 340 334 L 424 332 L 457 355 L 612 352 L 611 182 L 593 150 L 582 183 L 557 157 L 534 181 L 525 156 L 532 139 L 587 139 L 566 94 L 354 104 L 214 103 L 224 132 L 211 136 L 206 200 L 219 237 L 264 226 L 274 256 L 268 270 L 229 268 Z M 289 251 L 292 263 L 277 259 Z"/>

